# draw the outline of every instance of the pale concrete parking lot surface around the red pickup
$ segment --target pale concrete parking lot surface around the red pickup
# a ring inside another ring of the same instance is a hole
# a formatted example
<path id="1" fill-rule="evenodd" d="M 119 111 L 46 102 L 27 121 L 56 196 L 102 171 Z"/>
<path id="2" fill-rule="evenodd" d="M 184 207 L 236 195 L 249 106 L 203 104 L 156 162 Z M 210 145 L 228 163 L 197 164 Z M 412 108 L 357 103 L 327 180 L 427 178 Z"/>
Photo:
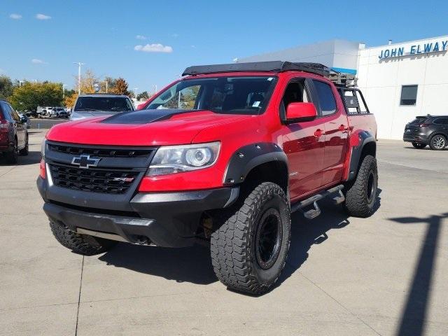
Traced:
<path id="1" fill-rule="evenodd" d="M 36 190 L 42 139 L 0 163 L 2 335 L 448 335 L 448 151 L 379 141 L 374 216 L 294 214 L 279 286 L 251 297 L 204 247 L 60 246 Z"/>

